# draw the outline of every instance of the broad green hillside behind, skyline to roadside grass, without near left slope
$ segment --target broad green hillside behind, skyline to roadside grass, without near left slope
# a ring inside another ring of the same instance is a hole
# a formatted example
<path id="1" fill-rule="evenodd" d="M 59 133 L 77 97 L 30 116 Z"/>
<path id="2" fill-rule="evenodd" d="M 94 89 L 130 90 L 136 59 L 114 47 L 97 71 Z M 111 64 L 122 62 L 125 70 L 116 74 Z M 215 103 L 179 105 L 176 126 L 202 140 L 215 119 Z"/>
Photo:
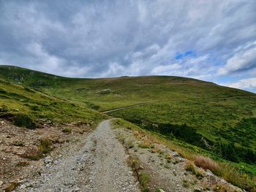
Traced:
<path id="1" fill-rule="evenodd" d="M 14 66 L 0 66 L 0 79 L 92 110 L 141 104 L 108 115 L 213 151 L 230 161 L 256 163 L 255 93 L 184 77 L 79 79 Z"/>

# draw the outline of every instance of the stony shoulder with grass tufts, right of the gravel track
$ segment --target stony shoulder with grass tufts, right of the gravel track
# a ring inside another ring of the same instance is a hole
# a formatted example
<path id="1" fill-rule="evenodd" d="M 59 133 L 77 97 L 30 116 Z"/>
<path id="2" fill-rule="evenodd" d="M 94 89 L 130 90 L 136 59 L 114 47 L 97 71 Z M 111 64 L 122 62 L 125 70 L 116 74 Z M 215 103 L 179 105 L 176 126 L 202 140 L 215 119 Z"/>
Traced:
<path id="1" fill-rule="evenodd" d="M 127 154 L 137 158 L 140 174 L 148 175 L 144 188 L 148 191 L 241 191 L 209 170 L 195 166 L 200 176 L 187 171 L 190 162 L 168 147 L 154 142 L 140 131 L 115 128 L 116 137 L 127 149 Z"/>

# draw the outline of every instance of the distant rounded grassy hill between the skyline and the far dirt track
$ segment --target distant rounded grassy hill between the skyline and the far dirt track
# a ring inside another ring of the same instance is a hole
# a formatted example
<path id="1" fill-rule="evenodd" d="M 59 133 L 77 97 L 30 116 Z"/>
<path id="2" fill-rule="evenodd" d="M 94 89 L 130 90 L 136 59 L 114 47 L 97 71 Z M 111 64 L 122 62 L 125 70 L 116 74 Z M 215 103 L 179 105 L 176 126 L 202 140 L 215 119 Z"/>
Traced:
<path id="1" fill-rule="evenodd" d="M 75 79 L 18 67 L 0 66 L 0 78 L 9 82 L 20 82 L 61 98 L 92 102 L 99 106 L 99 110 L 110 110 L 145 101 L 255 95 L 184 77 Z M 105 91 L 106 89 L 109 91 Z"/>

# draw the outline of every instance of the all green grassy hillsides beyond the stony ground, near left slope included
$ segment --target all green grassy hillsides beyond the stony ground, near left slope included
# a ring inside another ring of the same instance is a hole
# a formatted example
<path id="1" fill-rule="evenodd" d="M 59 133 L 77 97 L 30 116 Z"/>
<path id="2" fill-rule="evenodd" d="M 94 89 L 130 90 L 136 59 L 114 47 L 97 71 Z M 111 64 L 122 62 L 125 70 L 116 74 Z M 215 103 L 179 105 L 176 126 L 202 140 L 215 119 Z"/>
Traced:
<path id="1" fill-rule="evenodd" d="M 184 77 L 80 79 L 0 66 L 0 101 L 0 116 L 27 128 L 42 119 L 95 125 L 97 111 L 142 104 L 108 115 L 256 174 L 255 93 Z"/>

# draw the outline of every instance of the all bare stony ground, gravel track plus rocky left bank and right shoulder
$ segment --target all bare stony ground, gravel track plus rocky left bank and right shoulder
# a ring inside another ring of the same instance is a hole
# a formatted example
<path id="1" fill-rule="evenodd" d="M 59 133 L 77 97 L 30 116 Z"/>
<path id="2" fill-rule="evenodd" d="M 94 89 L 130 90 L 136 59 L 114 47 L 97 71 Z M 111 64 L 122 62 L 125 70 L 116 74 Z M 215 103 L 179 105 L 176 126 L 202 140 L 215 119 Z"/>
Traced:
<path id="1" fill-rule="evenodd" d="M 50 133 L 63 134 L 61 131 L 49 127 L 45 129 L 46 132 L 41 130 L 41 133 L 38 133 L 40 130 L 17 128 L 7 122 L 4 122 L 0 128 L 2 128 L 0 163 L 1 170 L 5 172 L 5 174 L 1 172 L 0 175 L 2 190 L 3 186 L 14 185 L 16 187 L 14 191 L 22 192 L 223 191 L 223 189 L 241 191 L 207 170 L 200 169 L 203 173 L 200 177 L 187 172 L 187 160 L 178 153 L 152 142 L 139 131 L 113 128 L 110 120 L 103 121 L 89 134 L 75 134 L 72 137 L 64 134 L 58 137 L 59 140 L 69 139 L 69 142 L 61 142 L 59 148 L 39 161 L 22 158 L 23 153 L 26 153 L 24 149 L 36 145 L 38 135 L 45 137 Z M 17 130 L 15 132 L 12 129 Z M 11 130 L 12 136 L 8 133 Z M 23 145 L 20 145 L 20 142 L 23 142 Z M 136 165 L 131 165 L 131 158 L 136 160 Z M 12 166 L 18 162 L 27 163 L 15 166 L 12 170 Z M 137 168 L 134 169 L 134 166 Z M 12 170 L 10 174 L 8 169 Z"/>

